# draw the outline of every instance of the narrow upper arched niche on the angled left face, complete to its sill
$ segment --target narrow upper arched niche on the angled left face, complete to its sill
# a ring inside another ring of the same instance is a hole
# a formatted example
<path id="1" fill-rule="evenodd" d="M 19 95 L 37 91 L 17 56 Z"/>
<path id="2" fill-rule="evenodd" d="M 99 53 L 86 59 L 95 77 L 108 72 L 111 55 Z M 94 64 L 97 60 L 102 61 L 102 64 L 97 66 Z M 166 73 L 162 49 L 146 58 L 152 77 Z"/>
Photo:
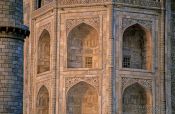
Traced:
<path id="1" fill-rule="evenodd" d="M 50 34 L 44 30 L 38 41 L 38 65 L 37 73 L 50 70 Z"/>

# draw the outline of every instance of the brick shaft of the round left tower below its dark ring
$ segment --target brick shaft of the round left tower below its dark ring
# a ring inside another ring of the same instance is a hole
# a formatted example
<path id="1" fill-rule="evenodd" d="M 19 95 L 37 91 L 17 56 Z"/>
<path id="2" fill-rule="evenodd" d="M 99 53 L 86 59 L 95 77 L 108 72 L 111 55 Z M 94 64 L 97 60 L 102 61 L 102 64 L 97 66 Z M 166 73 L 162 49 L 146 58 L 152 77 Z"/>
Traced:
<path id="1" fill-rule="evenodd" d="M 0 37 L 0 113 L 22 113 L 23 41 Z"/>

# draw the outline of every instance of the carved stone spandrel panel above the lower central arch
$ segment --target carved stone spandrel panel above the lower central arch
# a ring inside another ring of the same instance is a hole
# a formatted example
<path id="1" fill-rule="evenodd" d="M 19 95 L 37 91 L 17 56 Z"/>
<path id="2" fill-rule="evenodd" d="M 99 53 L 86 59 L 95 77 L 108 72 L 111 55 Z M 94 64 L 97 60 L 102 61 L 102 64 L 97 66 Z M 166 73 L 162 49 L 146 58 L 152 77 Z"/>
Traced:
<path id="1" fill-rule="evenodd" d="M 76 85 L 79 82 L 86 82 L 99 90 L 99 79 L 98 77 L 66 77 L 65 78 L 65 91 Z"/>

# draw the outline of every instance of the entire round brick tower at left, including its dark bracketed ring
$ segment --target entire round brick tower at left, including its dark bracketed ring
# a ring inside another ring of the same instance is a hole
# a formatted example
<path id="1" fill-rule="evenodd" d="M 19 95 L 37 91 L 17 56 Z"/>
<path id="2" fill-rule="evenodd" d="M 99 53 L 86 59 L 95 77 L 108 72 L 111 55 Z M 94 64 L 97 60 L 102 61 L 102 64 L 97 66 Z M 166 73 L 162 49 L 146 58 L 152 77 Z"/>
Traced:
<path id="1" fill-rule="evenodd" d="M 0 1 L 0 113 L 23 112 L 23 1 Z"/>

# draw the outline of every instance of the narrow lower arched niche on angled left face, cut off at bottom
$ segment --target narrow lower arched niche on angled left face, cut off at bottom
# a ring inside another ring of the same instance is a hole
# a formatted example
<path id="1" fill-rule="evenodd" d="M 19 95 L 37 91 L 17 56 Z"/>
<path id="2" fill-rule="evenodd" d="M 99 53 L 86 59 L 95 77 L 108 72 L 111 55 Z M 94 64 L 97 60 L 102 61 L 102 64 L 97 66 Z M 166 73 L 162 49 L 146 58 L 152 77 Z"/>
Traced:
<path id="1" fill-rule="evenodd" d="M 42 86 L 38 92 L 36 111 L 37 114 L 49 114 L 49 92 L 45 86 Z"/>

